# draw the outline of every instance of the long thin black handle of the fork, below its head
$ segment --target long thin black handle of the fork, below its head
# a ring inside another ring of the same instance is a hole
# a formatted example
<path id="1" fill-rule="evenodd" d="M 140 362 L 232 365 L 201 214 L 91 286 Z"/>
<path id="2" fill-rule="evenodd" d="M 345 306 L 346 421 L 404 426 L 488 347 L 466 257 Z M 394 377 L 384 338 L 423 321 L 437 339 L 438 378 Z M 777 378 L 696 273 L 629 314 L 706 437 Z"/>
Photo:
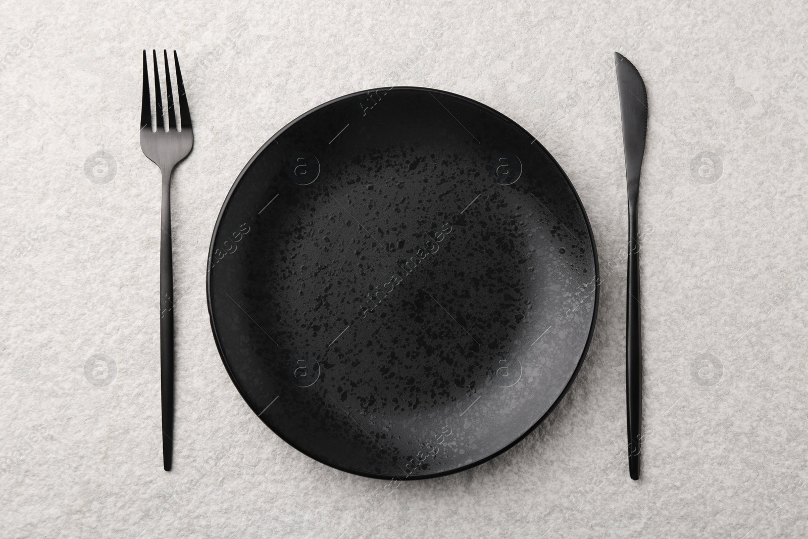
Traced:
<path id="1" fill-rule="evenodd" d="M 162 173 L 160 216 L 160 385 L 162 465 L 171 470 L 174 448 L 174 271 L 171 267 L 171 171 Z"/>

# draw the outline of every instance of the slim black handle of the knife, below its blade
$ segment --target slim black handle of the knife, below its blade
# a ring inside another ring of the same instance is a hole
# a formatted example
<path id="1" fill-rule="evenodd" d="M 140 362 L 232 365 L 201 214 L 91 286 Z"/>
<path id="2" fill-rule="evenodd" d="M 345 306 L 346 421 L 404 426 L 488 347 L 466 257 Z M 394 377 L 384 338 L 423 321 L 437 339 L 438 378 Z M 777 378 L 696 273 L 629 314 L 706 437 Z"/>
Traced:
<path id="1" fill-rule="evenodd" d="M 629 475 L 640 478 L 642 439 L 642 346 L 640 343 L 640 248 L 637 204 L 629 204 L 629 288 L 626 294 L 625 402 L 629 427 Z"/>

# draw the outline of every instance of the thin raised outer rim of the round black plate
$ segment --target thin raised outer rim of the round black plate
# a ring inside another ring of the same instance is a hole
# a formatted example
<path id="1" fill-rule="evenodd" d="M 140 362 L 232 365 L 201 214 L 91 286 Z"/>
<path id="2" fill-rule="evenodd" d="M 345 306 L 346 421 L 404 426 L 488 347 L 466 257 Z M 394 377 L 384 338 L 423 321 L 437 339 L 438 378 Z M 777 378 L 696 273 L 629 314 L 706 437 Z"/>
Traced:
<path id="1" fill-rule="evenodd" d="M 505 120 L 507 120 L 508 122 L 513 124 L 514 126 L 516 126 L 516 128 L 520 129 L 526 135 L 528 135 L 528 137 L 532 137 L 533 142 L 531 144 L 534 144 L 534 143 L 537 144 L 537 146 L 541 150 L 541 152 L 543 152 L 545 154 L 545 156 L 548 157 L 549 160 L 553 163 L 553 165 L 555 165 L 558 168 L 558 171 L 561 172 L 562 177 L 566 180 L 566 183 L 570 187 L 570 190 L 572 191 L 572 194 L 575 196 L 575 200 L 578 202 L 578 206 L 579 206 L 579 208 L 581 210 L 581 213 L 583 214 L 583 221 L 587 225 L 587 234 L 589 235 L 589 241 L 590 241 L 591 246 L 592 246 L 592 257 L 593 257 L 593 260 L 595 262 L 595 303 L 592 305 L 592 318 L 591 318 L 591 323 L 589 325 L 589 333 L 587 335 L 587 342 L 583 346 L 583 351 L 581 352 L 581 357 L 579 358 L 577 364 L 575 365 L 574 371 L 573 371 L 572 375 L 570 376 L 570 380 L 566 382 L 566 385 L 564 386 L 564 389 L 562 390 L 562 392 L 560 394 L 558 394 L 558 398 L 556 398 L 555 401 L 553 401 L 553 404 L 551 404 L 549 406 L 547 411 L 545 411 L 545 413 L 543 415 L 541 415 L 541 418 L 537 419 L 537 421 L 535 423 L 533 423 L 530 427 L 528 427 L 528 429 L 525 430 L 525 432 L 523 432 L 520 436 L 517 436 L 515 440 L 511 441 L 511 443 L 507 444 L 503 448 L 500 448 L 499 450 L 495 451 L 494 453 L 491 453 L 490 455 L 487 455 L 486 457 L 482 457 L 481 459 L 479 459 L 477 461 L 473 461 L 470 464 L 458 466 L 457 468 L 452 468 L 452 470 L 445 470 L 445 471 L 441 471 L 441 472 L 436 472 L 434 474 L 423 474 L 423 475 L 417 475 L 417 476 L 371 474 L 371 473 L 368 473 L 368 472 L 364 472 L 362 470 L 353 470 L 353 469 L 348 468 L 346 466 L 337 465 L 337 464 L 334 464 L 332 462 L 326 462 L 326 461 L 324 461 L 324 460 L 322 460 L 322 459 L 320 459 L 318 457 L 315 457 L 314 455 L 309 453 L 309 451 L 305 450 L 304 448 L 301 448 L 297 444 L 293 443 L 291 440 L 288 440 L 288 438 L 286 436 L 282 435 L 280 432 L 278 432 L 275 427 L 272 427 L 264 419 L 261 419 L 260 414 L 263 413 L 263 411 L 259 412 L 257 406 L 253 406 L 253 403 L 251 402 L 251 399 L 248 398 L 246 392 L 242 389 L 242 386 L 238 383 L 238 380 L 234 376 L 234 373 L 233 373 L 232 369 L 230 368 L 230 365 L 228 364 L 227 360 L 225 359 L 225 353 L 222 351 L 221 343 L 220 343 L 220 339 L 219 339 L 219 334 L 218 334 L 217 329 L 216 329 L 216 322 L 213 321 L 213 305 L 212 305 L 212 299 L 213 298 L 211 296 L 211 269 L 212 269 L 211 263 L 213 262 L 214 245 L 215 245 L 215 242 L 216 242 L 217 234 L 219 233 L 219 227 L 221 225 L 222 217 L 225 214 L 225 209 L 227 208 L 227 206 L 228 206 L 228 204 L 230 202 L 230 199 L 233 197 L 234 192 L 236 191 L 236 188 L 238 187 L 239 183 L 241 183 L 242 178 L 244 177 L 244 175 L 246 175 L 246 172 L 250 170 L 250 166 L 253 165 L 255 160 L 258 159 L 261 154 L 263 154 L 263 151 L 265 149 L 267 149 L 267 146 L 271 145 L 272 142 L 276 141 L 276 139 L 278 137 L 280 137 L 280 135 L 285 133 L 288 128 L 290 128 L 293 124 L 296 124 L 299 120 L 302 120 L 306 116 L 309 116 L 309 115 L 313 114 L 314 112 L 319 111 L 322 108 L 330 106 L 332 103 L 337 103 L 339 101 L 343 101 L 345 99 L 351 99 L 351 98 L 354 98 L 354 97 L 358 97 L 360 95 L 367 95 L 368 93 L 374 92 L 374 91 L 387 91 L 387 92 L 389 92 L 389 91 L 397 91 L 397 90 L 427 91 L 429 93 L 435 92 L 435 93 L 440 94 L 440 95 L 448 95 L 448 96 L 450 96 L 452 98 L 462 99 L 464 101 L 472 103 L 475 106 L 482 107 L 483 109 L 486 109 L 489 112 L 493 112 L 494 115 L 502 116 Z M 227 192 L 227 196 L 225 196 L 225 200 L 224 200 L 224 202 L 222 202 L 221 208 L 219 209 L 219 213 L 218 213 L 217 218 L 216 218 L 216 224 L 213 225 L 213 234 L 211 235 L 210 246 L 208 247 L 208 259 L 207 259 L 206 267 L 205 267 L 205 297 L 206 297 L 206 303 L 208 305 L 208 318 L 210 319 L 211 331 L 213 331 L 213 340 L 216 343 L 217 352 L 219 352 L 219 358 L 221 359 L 222 364 L 224 364 L 224 366 L 225 366 L 225 370 L 227 371 L 227 374 L 230 377 L 230 381 L 233 382 L 233 385 L 236 387 L 236 390 L 238 390 L 238 394 L 240 394 L 242 396 L 242 399 L 244 400 L 246 405 L 250 407 L 250 410 L 252 410 L 253 413 L 255 413 L 255 415 L 258 416 L 258 419 L 260 419 L 261 422 L 264 425 L 266 425 L 273 433 L 275 433 L 276 436 L 278 436 L 281 440 L 284 440 L 284 442 L 289 444 L 290 446 L 292 446 L 292 448 L 295 448 L 295 449 L 297 449 L 297 451 L 303 453 L 306 457 L 309 457 L 309 458 L 313 459 L 314 461 L 318 461 L 321 464 L 329 466 L 330 468 L 334 468 L 335 470 L 340 470 L 340 471 L 343 471 L 343 472 L 347 472 L 348 474 L 354 474 L 354 475 L 359 475 L 359 476 L 362 476 L 362 477 L 373 478 L 373 479 L 393 479 L 393 478 L 397 478 L 400 481 L 404 481 L 404 480 L 406 480 L 406 481 L 415 481 L 415 480 L 421 480 L 421 479 L 434 479 L 434 478 L 444 477 L 444 476 L 447 476 L 447 475 L 458 474 L 458 473 L 460 473 L 462 471 L 469 470 L 471 468 L 475 468 L 475 467 L 477 467 L 479 465 L 482 465 L 482 464 L 486 463 L 487 461 L 490 461 L 490 460 L 494 459 L 495 457 L 499 457 L 503 453 L 507 452 L 507 450 L 509 450 L 509 449 L 513 448 L 514 446 L 516 446 L 516 444 L 519 444 L 520 441 L 524 440 L 528 435 L 530 435 L 530 433 L 532 433 L 534 430 L 536 430 L 536 428 L 541 423 L 543 423 L 545 421 L 545 419 L 547 419 L 547 417 L 553 412 L 553 410 L 556 409 L 556 407 L 559 405 L 559 403 L 562 402 L 562 399 L 564 398 L 566 393 L 570 390 L 570 387 L 572 387 L 572 384 L 575 381 L 575 378 L 578 377 L 578 373 L 581 370 L 581 367 L 583 366 L 583 360 L 585 360 L 587 358 L 587 354 L 589 352 L 589 347 L 591 345 L 592 338 L 595 335 L 595 326 L 597 325 L 597 318 L 598 318 L 598 307 L 600 305 L 600 264 L 598 263 L 597 246 L 595 246 L 595 233 L 592 230 L 591 223 L 589 222 L 589 216 L 587 215 L 586 208 L 584 208 L 584 206 L 583 206 L 583 202 L 581 200 L 581 197 L 579 196 L 578 192 L 575 190 L 575 186 L 573 185 L 573 183 L 570 180 L 569 176 L 566 175 L 566 171 L 562 168 L 562 166 L 560 164 L 558 164 L 558 161 L 556 161 L 556 158 L 553 157 L 553 154 L 549 153 L 549 151 L 544 147 L 544 145 L 541 144 L 541 142 L 538 140 L 537 137 L 534 137 L 530 132 L 528 132 L 527 129 L 522 127 L 521 124 L 519 124 L 516 120 L 513 120 L 510 116 L 507 116 L 507 115 L 503 114 L 503 112 L 499 112 L 494 107 L 490 107 L 490 106 L 486 105 L 485 103 L 480 103 L 476 99 L 471 99 L 469 97 L 466 97 L 465 95 L 454 94 L 454 93 L 452 93 L 450 91 L 436 90 L 435 88 L 427 88 L 427 87 L 424 87 L 424 86 L 387 86 L 387 87 L 381 86 L 381 87 L 377 87 L 377 88 L 371 88 L 371 89 L 368 89 L 368 90 L 351 92 L 350 94 L 346 94 L 346 95 L 341 95 L 341 96 L 339 96 L 339 97 L 337 97 L 335 99 L 330 99 L 329 101 L 326 101 L 325 103 L 321 103 L 317 107 L 309 109 L 308 111 L 304 112 L 303 114 L 297 116 L 294 120 L 292 120 L 292 121 L 288 122 L 287 124 L 285 124 L 284 127 L 280 128 L 277 131 L 277 133 L 272 135 L 266 142 L 264 142 L 263 145 L 261 145 L 261 147 L 255 152 L 255 154 L 253 154 L 253 156 L 250 158 L 250 160 L 248 162 L 246 162 L 246 164 L 242 167 L 242 171 L 238 173 L 238 176 L 236 177 L 233 185 L 230 186 L 230 189 Z"/>

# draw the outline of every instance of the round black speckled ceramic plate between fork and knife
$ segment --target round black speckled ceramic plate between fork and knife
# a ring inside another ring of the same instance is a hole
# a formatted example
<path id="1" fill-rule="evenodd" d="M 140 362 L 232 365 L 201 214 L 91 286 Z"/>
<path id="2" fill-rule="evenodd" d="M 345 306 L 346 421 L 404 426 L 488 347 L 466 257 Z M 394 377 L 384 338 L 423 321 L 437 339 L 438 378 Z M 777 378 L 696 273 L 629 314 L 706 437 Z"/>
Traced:
<path id="1" fill-rule="evenodd" d="M 514 121 L 393 87 L 306 112 L 250 159 L 208 263 L 213 335 L 293 447 L 377 478 L 502 453 L 569 388 L 595 326 L 595 242 Z"/>

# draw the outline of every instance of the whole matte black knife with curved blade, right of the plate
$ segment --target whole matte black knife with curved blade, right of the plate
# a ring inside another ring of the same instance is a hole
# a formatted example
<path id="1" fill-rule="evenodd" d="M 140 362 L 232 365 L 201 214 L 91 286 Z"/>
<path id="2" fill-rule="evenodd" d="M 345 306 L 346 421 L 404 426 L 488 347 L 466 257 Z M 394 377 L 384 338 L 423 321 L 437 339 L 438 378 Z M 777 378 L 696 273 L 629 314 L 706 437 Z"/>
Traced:
<path id="1" fill-rule="evenodd" d="M 642 345 L 640 343 L 640 250 L 637 242 L 637 199 L 640 191 L 642 154 L 646 151 L 648 95 L 646 84 L 634 65 L 614 53 L 617 92 L 623 122 L 625 181 L 629 189 L 629 291 L 626 294 L 625 399 L 629 426 L 629 475 L 640 478 L 642 439 Z"/>

